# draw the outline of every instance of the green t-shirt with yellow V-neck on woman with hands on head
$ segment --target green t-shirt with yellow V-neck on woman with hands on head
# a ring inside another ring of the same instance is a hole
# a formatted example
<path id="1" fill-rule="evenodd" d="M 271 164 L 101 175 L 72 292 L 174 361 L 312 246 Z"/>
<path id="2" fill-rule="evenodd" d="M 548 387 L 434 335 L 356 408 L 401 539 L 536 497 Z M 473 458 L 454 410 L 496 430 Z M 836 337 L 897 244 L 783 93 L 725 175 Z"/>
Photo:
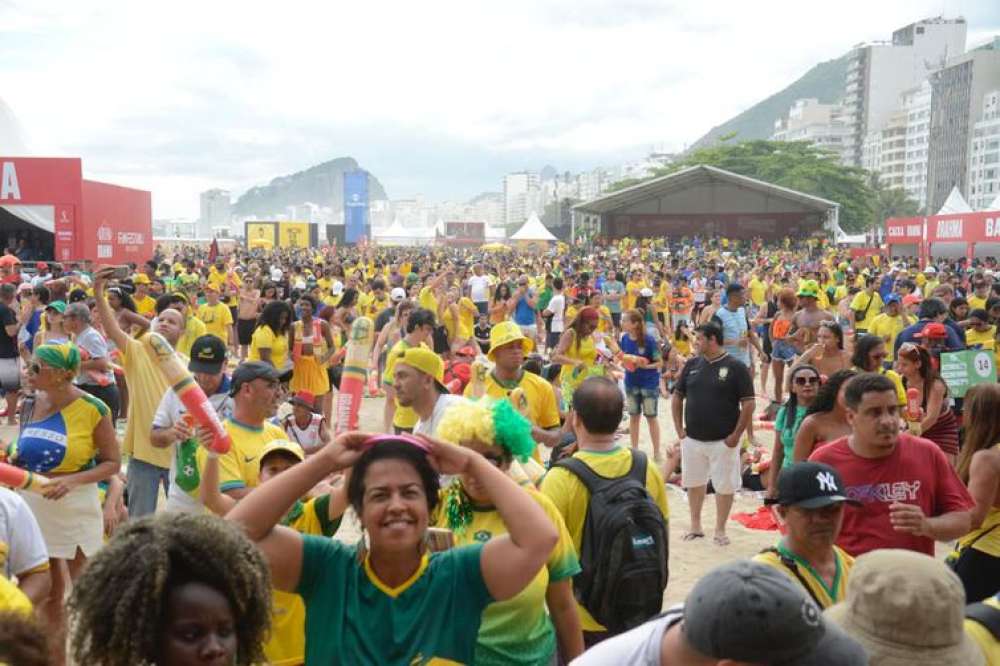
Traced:
<path id="1" fill-rule="evenodd" d="M 412 579 L 386 587 L 358 563 L 357 548 L 302 537 L 306 664 L 473 661 L 483 609 L 493 601 L 480 564 L 481 544 L 425 556 Z"/>

